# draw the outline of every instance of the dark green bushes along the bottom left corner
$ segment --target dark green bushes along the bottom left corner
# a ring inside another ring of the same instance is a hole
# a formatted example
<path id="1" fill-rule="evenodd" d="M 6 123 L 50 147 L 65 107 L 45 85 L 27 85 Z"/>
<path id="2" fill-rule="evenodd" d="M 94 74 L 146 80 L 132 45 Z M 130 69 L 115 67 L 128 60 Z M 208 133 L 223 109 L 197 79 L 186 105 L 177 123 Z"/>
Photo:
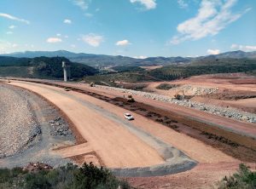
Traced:
<path id="1" fill-rule="evenodd" d="M 20 168 L 0 169 L 0 189 L 128 189 L 127 182 L 118 180 L 105 168 L 92 163 L 82 167 L 68 163 L 57 169 L 38 170 L 28 173 Z"/>

